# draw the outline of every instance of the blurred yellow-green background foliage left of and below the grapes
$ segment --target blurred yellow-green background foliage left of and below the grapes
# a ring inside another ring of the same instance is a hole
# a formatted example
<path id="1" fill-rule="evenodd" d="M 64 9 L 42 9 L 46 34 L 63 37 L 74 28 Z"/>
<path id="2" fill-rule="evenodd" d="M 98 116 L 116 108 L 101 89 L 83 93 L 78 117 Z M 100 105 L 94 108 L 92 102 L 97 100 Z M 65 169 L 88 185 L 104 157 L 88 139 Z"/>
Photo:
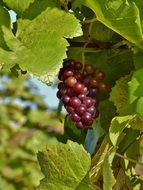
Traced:
<path id="1" fill-rule="evenodd" d="M 42 174 L 36 153 L 62 133 L 51 110 L 26 75 L 0 75 L 0 190 L 34 190 Z"/>

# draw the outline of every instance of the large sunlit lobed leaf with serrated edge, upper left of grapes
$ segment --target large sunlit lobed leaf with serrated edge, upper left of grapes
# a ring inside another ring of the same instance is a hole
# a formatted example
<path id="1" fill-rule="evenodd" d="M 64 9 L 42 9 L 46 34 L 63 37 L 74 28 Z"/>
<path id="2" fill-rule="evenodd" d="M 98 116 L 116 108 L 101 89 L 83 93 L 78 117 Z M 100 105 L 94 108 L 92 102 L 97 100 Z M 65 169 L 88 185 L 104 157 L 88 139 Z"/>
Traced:
<path id="1" fill-rule="evenodd" d="M 55 27 L 56 26 L 56 27 Z M 11 51 L 0 49 L 0 61 L 9 69 L 15 64 L 39 77 L 53 81 L 66 58 L 65 37 L 82 34 L 79 21 L 70 13 L 47 8 L 34 20 L 19 20 L 16 37 L 6 28 L 5 41 Z"/>

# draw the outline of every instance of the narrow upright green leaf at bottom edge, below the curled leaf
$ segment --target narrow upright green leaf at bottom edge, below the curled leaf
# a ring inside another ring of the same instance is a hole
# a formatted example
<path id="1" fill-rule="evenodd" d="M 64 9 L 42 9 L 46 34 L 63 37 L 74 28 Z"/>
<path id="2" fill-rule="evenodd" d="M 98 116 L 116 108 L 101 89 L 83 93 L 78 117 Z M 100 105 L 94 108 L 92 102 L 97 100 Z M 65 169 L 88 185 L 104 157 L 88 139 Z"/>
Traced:
<path id="1" fill-rule="evenodd" d="M 112 190 L 116 180 L 111 169 L 111 163 L 109 162 L 109 154 L 107 153 L 103 162 L 103 190 Z"/>

